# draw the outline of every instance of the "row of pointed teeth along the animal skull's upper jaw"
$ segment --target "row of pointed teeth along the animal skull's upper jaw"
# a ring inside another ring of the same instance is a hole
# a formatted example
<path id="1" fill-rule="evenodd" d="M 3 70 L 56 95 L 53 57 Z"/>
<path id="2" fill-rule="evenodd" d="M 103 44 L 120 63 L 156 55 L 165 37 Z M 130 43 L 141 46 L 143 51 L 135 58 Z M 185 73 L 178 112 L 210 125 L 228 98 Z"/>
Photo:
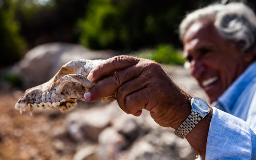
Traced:
<path id="1" fill-rule="evenodd" d="M 71 110 L 77 104 L 76 102 L 74 102 L 74 103 L 66 102 L 66 104 L 60 106 L 60 103 L 62 103 L 62 102 L 66 102 L 66 100 L 62 99 L 62 100 L 60 100 L 58 102 L 50 102 L 50 101 L 48 101 L 48 102 L 41 102 L 41 103 L 38 103 L 38 104 L 36 104 L 36 103 L 30 104 L 30 103 L 25 103 L 25 102 L 21 102 L 21 103 L 17 102 L 15 104 L 15 109 L 16 110 L 20 110 L 20 114 L 22 114 L 23 112 L 26 111 L 26 107 L 28 107 L 29 113 L 32 116 L 32 110 L 35 107 L 41 107 L 41 108 L 47 108 L 47 109 L 50 109 L 50 108 L 52 109 L 52 108 L 56 108 L 57 107 L 57 108 L 60 109 L 60 111 L 64 112 L 66 110 Z"/>

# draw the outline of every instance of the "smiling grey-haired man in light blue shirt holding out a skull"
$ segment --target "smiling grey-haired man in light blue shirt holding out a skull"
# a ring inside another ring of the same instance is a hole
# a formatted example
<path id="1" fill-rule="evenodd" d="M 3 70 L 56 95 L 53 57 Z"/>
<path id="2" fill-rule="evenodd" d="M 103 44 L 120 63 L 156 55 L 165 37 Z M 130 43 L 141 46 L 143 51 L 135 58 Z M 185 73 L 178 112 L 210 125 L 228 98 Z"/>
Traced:
<path id="1" fill-rule="evenodd" d="M 84 98 L 117 92 L 128 114 L 150 111 L 161 126 L 186 137 L 205 159 L 256 159 L 256 17 L 242 3 L 215 4 L 188 14 L 180 25 L 191 74 L 212 108 L 178 88 L 156 62 L 116 56 L 88 78 L 98 84 Z M 219 108 L 219 109 L 218 109 Z M 225 112 L 223 112 L 225 111 Z"/>

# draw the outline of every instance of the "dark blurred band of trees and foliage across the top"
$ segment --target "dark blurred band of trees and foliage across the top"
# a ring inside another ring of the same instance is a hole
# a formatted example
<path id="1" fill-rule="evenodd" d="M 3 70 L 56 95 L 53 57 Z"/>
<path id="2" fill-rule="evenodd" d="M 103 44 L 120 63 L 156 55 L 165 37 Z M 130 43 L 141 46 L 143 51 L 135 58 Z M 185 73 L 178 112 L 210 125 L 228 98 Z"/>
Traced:
<path id="1" fill-rule="evenodd" d="M 182 48 L 184 15 L 216 0 L 0 0 L 0 65 L 14 64 L 48 42 L 123 53 L 142 48 Z M 254 8 L 256 2 L 248 0 Z"/>

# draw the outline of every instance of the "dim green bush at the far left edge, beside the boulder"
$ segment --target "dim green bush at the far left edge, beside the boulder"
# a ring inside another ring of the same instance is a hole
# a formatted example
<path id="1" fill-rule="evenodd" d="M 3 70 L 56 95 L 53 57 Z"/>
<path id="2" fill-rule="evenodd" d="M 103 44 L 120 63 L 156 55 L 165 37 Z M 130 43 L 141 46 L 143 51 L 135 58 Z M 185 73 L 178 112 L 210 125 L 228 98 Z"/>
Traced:
<path id="1" fill-rule="evenodd" d="M 6 0 L 0 8 L 0 66 L 10 65 L 23 56 L 26 44 L 19 30 L 19 25 L 14 20 L 12 4 Z"/>

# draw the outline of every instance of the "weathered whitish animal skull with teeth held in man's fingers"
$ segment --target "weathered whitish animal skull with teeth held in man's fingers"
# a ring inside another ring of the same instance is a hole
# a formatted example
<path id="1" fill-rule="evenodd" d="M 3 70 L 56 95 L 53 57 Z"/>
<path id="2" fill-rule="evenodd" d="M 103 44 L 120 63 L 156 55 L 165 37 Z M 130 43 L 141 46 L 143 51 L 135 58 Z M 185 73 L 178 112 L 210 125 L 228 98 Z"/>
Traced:
<path id="1" fill-rule="evenodd" d="M 90 71 L 104 60 L 72 60 L 62 66 L 48 82 L 29 88 L 15 105 L 20 114 L 28 108 L 30 115 L 35 107 L 58 108 L 64 112 L 76 106 L 76 100 L 84 100 L 84 93 L 95 84 L 86 77 Z M 102 101 L 112 102 L 116 93 L 102 97 Z"/>

